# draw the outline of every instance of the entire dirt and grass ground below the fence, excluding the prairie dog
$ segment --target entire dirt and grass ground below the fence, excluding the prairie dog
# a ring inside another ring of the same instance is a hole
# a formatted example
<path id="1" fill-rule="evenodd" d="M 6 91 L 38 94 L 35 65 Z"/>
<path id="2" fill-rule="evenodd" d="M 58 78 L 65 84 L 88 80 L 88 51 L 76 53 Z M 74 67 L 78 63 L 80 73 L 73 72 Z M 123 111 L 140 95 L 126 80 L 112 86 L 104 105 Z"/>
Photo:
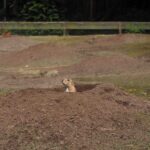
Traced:
<path id="1" fill-rule="evenodd" d="M 150 149 L 149 60 L 149 35 L 0 37 L 0 150 Z"/>

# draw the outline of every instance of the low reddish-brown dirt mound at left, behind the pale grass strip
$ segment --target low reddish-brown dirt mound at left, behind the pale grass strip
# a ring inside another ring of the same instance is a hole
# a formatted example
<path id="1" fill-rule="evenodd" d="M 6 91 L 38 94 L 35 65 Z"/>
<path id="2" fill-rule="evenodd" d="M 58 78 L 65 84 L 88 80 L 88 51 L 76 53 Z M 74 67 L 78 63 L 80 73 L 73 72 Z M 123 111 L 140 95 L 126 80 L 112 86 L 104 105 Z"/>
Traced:
<path id="1" fill-rule="evenodd" d="M 34 62 L 38 63 L 43 60 L 55 62 L 62 58 L 69 59 L 74 55 L 74 49 L 70 47 L 37 44 L 21 51 L 2 53 L 0 55 L 0 63 L 6 66 L 18 66 Z"/>

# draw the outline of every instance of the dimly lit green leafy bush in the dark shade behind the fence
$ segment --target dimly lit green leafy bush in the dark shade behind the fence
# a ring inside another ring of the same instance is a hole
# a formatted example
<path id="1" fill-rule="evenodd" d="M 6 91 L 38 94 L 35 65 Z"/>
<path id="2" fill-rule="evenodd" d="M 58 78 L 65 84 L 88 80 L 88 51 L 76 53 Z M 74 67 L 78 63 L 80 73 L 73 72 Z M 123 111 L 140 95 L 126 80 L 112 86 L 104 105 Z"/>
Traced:
<path id="1" fill-rule="evenodd" d="M 54 2 L 44 3 L 36 0 L 24 5 L 20 17 L 26 21 L 58 21 L 61 19 Z"/>

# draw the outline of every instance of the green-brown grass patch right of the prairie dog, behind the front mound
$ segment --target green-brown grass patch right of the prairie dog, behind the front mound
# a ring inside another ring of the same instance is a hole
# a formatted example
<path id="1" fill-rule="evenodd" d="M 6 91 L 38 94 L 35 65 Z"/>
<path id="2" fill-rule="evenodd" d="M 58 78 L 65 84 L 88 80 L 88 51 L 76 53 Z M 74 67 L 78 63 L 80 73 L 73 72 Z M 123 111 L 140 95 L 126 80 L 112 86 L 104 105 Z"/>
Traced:
<path id="1" fill-rule="evenodd" d="M 133 75 L 103 75 L 103 76 L 83 76 L 76 77 L 76 82 L 97 84 L 97 83 L 112 83 L 123 90 L 142 96 L 150 100 L 150 74 L 133 74 Z"/>

